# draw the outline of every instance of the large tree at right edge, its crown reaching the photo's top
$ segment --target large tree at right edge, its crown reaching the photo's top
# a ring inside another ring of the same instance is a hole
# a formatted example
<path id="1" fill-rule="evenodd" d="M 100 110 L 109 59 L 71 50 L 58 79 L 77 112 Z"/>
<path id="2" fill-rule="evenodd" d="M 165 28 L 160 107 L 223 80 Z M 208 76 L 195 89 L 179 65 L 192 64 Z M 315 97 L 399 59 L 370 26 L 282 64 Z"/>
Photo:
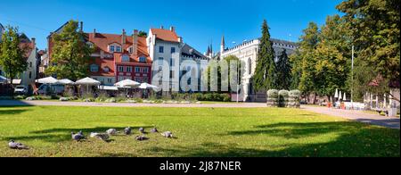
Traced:
<path id="1" fill-rule="evenodd" d="M 350 27 L 356 48 L 356 69 L 364 71 L 363 74 L 373 74 L 372 77 L 381 77 L 382 83 L 399 82 L 400 79 L 399 5 L 400 0 L 347 0 L 337 6 L 345 13 L 343 18 Z M 366 67 L 372 69 L 364 69 Z M 355 83 L 364 87 L 372 80 Z M 389 93 L 389 86 L 378 86 L 376 91 Z"/>

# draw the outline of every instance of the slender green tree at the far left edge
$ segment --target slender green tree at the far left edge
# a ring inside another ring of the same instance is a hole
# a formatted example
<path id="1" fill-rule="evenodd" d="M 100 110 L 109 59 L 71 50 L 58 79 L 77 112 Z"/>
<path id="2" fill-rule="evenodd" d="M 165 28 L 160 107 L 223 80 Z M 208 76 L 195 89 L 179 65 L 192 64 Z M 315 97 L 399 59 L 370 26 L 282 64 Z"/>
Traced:
<path id="1" fill-rule="evenodd" d="M 0 45 L 0 65 L 12 84 L 12 80 L 26 71 L 28 67 L 27 60 L 24 57 L 25 49 L 20 46 L 18 28 L 7 26 Z"/>

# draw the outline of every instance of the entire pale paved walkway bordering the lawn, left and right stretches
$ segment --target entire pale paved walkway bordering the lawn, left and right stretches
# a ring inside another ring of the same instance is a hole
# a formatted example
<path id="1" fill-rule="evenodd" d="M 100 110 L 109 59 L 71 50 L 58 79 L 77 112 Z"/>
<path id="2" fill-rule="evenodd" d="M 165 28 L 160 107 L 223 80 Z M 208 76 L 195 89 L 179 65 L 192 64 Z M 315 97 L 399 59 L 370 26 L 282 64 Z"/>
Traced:
<path id="1" fill-rule="evenodd" d="M 200 108 L 259 108 L 266 107 L 266 104 L 258 103 L 240 103 L 240 104 L 112 104 L 112 103 L 85 103 L 85 102 L 57 102 L 57 101 L 2 101 L 0 106 L 94 106 L 94 107 L 200 107 Z M 373 125 L 388 127 L 391 129 L 400 129 L 399 118 L 384 117 L 379 114 L 371 114 L 357 111 L 344 111 L 329 109 L 325 107 L 314 107 L 303 105 L 301 109 L 309 112 L 322 113 L 336 117 L 342 117 L 351 121 L 360 121 Z"/>

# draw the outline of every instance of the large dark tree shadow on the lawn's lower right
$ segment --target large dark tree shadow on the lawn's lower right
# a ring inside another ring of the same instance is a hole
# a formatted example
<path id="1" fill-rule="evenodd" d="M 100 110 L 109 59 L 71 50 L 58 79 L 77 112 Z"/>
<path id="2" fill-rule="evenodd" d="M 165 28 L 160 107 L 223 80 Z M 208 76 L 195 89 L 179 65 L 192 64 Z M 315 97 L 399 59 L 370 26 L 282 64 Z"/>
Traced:
<path id="1" fill-rule="evenodd" d="M 356 122 L 278 123 L 258 126 L 255 130 L 234 131 L 228 136 L 248 138 L 267 135 L 280 139 L 310 139 L 307 143 L 292 143 L 266 148 L 249 148 L 233 144 L 203 143 L 199 146 L 153 146 L 156 154 L 184 157 L 380 157 L 400 156 L 399 130 L 369 127 Z M 334 134 L 333 139 L 314 140 Z M 251 140 L 250 140 L 251 141 Z M 254 146 L 261 147 L 261 146 Z"/>

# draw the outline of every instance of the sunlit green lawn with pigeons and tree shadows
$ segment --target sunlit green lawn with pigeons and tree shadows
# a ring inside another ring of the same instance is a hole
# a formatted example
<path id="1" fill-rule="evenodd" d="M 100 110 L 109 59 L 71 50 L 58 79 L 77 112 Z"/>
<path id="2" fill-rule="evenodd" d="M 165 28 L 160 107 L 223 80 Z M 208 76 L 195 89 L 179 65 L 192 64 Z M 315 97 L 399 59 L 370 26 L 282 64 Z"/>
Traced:
<path id="1" fill-rule="evenodd" d="M 70 140 L 70 132 L 156 125 L 110 143 Z M 298 109 L 0 107 L 1 156 L 400 156 L 400 131 Z M 31 146 L 11 150 L 8 140 Z"/>

